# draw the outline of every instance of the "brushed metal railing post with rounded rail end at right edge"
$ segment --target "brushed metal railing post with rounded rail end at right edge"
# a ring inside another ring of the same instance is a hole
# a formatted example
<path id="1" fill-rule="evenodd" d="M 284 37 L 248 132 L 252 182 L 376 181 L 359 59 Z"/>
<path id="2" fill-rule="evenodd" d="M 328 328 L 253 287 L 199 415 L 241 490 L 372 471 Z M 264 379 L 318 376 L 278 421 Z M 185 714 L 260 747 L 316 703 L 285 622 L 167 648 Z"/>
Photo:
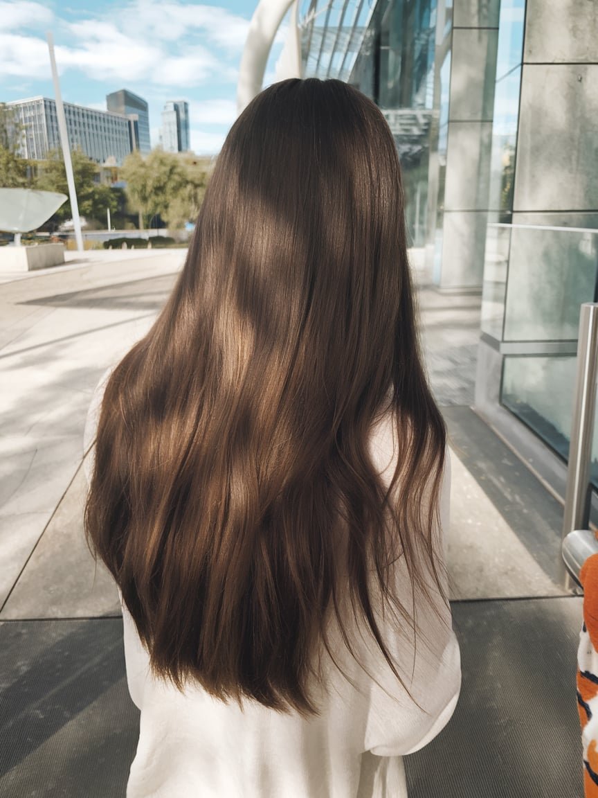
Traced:
<path id="1" fill-rule="evenodd" d="M 577 373 L 571 425 L 571 443 L 563 515 L 563 562 L 566 587 L 580 584 L 585 560 L 598 553 L 598 539 L 588 529 L 590 520 L 590 459 L 598 376 L 598 303 L 584 302 L 580 310 Z"/>

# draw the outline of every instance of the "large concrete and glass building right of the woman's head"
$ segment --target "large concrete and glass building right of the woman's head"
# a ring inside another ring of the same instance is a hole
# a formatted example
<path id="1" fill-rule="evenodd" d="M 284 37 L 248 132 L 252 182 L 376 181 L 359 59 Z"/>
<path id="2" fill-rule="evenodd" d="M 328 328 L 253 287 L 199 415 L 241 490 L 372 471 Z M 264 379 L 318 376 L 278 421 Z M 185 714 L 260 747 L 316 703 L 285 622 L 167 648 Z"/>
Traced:
<path id="1" fill-rule="evenodd" d="M 595 4 L 299 7 L 304 77 L 356 86 L 388 120 L 431 279 L 482 294 L 475 409 L 564 496 L 580 303 L 598 297 Z M 598 424 L 592 469 L 598 488 Z"/>

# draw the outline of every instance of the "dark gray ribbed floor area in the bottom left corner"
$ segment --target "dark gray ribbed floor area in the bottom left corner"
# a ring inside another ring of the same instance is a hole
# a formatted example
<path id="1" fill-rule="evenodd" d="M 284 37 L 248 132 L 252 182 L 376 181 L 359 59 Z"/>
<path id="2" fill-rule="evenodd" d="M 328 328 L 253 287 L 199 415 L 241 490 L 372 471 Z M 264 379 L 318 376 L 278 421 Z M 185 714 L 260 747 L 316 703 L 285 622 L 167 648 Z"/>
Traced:
<path id="1" fill-rule="evenodd" d="M 120 618 L 0 624 L 0 796 L 124 798 L 139 713 Z"/>

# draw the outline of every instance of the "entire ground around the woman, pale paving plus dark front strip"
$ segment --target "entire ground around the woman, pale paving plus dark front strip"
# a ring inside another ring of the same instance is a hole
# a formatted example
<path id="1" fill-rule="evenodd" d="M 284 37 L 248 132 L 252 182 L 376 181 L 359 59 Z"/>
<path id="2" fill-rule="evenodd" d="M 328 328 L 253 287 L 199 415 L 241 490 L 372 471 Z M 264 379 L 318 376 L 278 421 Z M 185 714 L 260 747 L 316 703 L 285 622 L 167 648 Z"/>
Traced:
<path id="1" fill-rule="evenodd" d="M 184 253 L 132 255 L 0 280 L 0 798 L 125 795 L 139 712 L 110 617 L 116 588 L 85 547 L 83 426 L 98 378 L 148 330 Z M 462 697 L 447 730 L 407 757 L 409 795 L 580 795 L 581 600 L 558 583 L 562 508 L 470 409 L 479 297 L 417 276 L 452 451 L 451 594 L 466 601 L 453 605 Z"/>

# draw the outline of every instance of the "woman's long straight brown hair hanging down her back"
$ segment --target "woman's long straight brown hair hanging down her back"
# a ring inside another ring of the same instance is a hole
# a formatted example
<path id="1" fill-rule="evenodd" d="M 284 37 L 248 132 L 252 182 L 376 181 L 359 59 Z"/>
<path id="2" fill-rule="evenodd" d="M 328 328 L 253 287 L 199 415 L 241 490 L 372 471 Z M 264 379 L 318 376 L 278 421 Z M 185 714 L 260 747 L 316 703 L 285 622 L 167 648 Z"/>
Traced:
<path id="1" fill-rule="evenodd" d="M 368 448 L 385 413 L 390 487 Z M 389 569 L 404 557 L 425 593 L 423 548 L 444 595 L 444 447 L 388 125 L 340 81 L 272 85 L 231 128 L 175 289 L 104 393 L 86 534 L 154 673 L 309 715 L 347 603 L 395 670 L 372 591 L 415 623 Z"/>

